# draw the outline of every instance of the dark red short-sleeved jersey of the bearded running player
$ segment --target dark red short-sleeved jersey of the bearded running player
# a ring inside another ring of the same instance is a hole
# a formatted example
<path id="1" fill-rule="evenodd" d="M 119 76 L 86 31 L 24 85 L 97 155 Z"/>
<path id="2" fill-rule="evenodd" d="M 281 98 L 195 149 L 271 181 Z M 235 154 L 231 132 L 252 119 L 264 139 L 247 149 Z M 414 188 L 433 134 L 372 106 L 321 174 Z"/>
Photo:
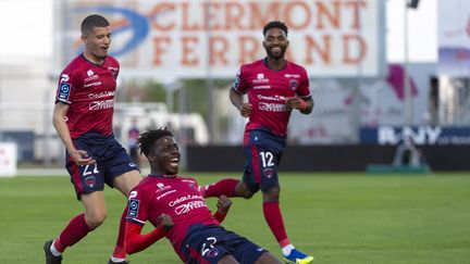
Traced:
<path id="1" fill-rule="evenodd" d="M 245 131 L 264 127 L 283 137 L 287 134 L 292 112 L 286 108 L 286 99 L 311 97 L 306 70 L 287 61 L 280 71 L 270 70 L 264 60 L 242 65 L 232 89 L 240 95 L 248 93 L 248 102 L 252 104 Z"/>

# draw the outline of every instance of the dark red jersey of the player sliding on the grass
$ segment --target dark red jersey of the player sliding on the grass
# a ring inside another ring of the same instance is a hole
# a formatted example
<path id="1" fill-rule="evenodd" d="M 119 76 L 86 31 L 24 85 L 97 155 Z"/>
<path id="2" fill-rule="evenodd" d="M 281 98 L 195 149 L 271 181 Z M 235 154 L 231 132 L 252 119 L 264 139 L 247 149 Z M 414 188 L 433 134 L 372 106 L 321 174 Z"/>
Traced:
<path id="1" fill-rule="evenodd" d="M 219 225 L 201 197 L 196 179 L 149 175 L 131 191 L 126 219 L 157 226 L 158 217 L 168 214 L 174 226 L 166 235 L 176 253 L 194 224 Z"/>

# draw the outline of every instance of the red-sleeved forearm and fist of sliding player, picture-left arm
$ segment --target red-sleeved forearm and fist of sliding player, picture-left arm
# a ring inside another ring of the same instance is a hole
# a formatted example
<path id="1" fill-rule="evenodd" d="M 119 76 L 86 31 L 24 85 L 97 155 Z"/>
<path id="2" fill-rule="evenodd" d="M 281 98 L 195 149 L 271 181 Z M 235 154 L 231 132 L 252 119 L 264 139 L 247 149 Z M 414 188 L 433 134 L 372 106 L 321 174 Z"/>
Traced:
<path id="1" fill-rule="evenodd" d="M 125 250 L 127 254 L 133 254 L 147 249 L 159 239 L 163 238 L 173 225 L 171 216 L 162 214 L 159 216 L 159 225 L 157 228 L 148 234 L 140 235 L 144 226 L 133 222 L 127 222 L 125 227 Z"/>

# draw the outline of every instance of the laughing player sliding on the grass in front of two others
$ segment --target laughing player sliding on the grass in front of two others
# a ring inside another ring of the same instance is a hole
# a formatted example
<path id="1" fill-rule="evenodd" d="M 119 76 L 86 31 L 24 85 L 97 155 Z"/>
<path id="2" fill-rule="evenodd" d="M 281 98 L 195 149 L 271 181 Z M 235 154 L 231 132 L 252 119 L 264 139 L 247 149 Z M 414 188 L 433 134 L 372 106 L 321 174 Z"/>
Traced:
<path id="1" fill-rule="evenodd" d="M 181 154 L 166 128 L 148 130 L 138 139 L 150 163 L 150 174 L 129 196 L 125 249 L 132 254 L 166 237 L 185 263 L 281 264 L 267 250 L 220 226 L 231 201 L 220 197 L 213 216 L 196 179 L 178 176 Z M 149 221 L 156 228 L 140 231 Z"/>

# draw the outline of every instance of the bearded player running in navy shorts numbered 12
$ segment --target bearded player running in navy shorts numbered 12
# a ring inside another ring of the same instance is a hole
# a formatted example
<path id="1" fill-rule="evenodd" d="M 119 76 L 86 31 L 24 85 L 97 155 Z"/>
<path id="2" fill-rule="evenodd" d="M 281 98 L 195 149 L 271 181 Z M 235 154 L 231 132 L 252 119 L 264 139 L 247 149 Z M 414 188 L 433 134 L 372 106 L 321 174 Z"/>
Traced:
<path id="1" fill-rule="evenodd" d="M 307 255 L 292 244 L 280 209 L 277 166 L 286 143 L 290 112 L 311 113 L 313 99 L 306 70 L 284 58 L 288 47 L 287 26 L 279 21 L 263 28 L 267 56 L 240 66 L 230 91 L 230 99 L 242 116 L 248 117 L 245 127 L 246 156 L 243 180 L 222 179 L 201 188 L 205 197 L 251 198 L 259 189 L 263 197 L 264 218 L 282 248 L 288 263 L 311 263 Z M 248 95 L 248 102 L 244 96 Z"/>

